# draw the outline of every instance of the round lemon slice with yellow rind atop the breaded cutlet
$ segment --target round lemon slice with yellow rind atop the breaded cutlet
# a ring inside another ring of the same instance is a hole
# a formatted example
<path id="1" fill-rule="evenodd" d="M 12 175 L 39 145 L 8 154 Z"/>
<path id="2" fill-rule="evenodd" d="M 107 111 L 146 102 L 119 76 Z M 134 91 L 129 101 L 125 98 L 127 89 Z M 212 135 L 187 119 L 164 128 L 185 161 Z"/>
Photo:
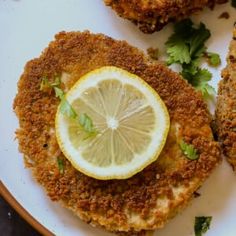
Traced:
<path id="1" fill-rule="evenodd" d="M 85 138 L 78 120 L 56 114 L 59 146 L 72 165 L 96 179 L 125 179 L 160 154 L 169 130 L 165 104 L 146 82 L 116 67 L 80 78 L 66 100 L 86 114 L 96 134 Z"/>

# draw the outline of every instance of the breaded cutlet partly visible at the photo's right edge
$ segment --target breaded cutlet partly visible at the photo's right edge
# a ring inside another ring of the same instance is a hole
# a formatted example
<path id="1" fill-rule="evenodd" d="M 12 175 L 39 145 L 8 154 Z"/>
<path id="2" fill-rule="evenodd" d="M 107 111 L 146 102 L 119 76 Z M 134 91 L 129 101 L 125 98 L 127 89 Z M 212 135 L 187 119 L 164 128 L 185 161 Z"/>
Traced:
<path id="1" fill-rule="evenodd" d="M 236 25 L 222 71 L 216 108 L 216 131 L 227 160 L 236 170 Z"/>

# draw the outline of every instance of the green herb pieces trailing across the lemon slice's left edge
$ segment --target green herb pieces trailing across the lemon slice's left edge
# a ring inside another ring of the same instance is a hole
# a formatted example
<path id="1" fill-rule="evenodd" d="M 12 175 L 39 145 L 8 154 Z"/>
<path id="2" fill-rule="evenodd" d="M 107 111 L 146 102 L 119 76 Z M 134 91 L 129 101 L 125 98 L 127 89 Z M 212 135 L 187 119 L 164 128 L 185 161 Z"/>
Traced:
<path id="1" fill-rule="evenodd" d="M 98 132 L 93 125 L 92 119 L 86 114 L 78 115 L 72 105 L 67 101 L 64 91 L 60 88 L 60 77 L 56 77 L 54 82 L 49 82 L 47 77 L 43 77 L 40 84 L 40 90 L 54 90 L 55 96 L 61 100 L 60 112 L 68 118 L 74 119 L 80 125 L 81 130 L 86 132 L 86 138 L 96 135 Z"/>

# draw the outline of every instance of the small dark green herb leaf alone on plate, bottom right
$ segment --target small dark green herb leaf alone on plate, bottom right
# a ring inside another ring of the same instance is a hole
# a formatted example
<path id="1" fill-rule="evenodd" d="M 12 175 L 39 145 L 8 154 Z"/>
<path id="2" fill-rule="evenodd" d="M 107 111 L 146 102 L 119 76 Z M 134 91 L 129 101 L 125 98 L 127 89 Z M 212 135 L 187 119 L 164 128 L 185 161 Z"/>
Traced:
<path id="1" fill-rule="evenodd" d="M 194 232 L 195 236 L 202 236 L 210 229 L 212 216 L 195 217 Z"/>

